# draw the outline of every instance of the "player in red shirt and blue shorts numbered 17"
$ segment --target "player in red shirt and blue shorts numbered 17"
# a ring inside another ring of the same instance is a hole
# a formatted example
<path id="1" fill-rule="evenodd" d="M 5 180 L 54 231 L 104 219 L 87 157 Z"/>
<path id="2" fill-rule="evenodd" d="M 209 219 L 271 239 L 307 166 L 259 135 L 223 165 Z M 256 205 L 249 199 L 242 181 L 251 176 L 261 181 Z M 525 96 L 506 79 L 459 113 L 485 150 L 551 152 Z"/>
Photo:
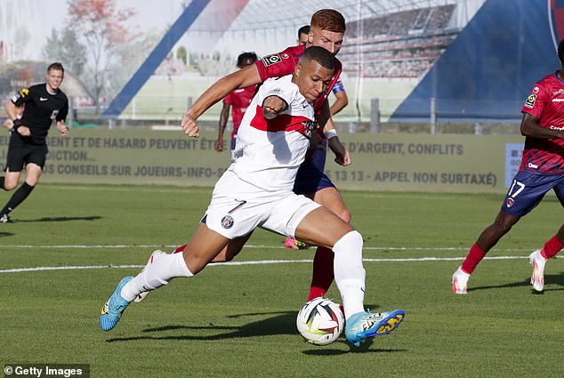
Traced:
<path id="1" fill-rule="evenodd" d="M 526 138 L 519 172 L 496 221 L 482 231 L 466 260 L 453 274 L 455 294 L 467 294 L 468 279 L 479 261 L 548 191 L 553 189 L 564 206 L 564 40 L 558 46 L 558 57 L 562 63 L 560 70 L 537 82 L 521 109 L 521 134 Z M 533 265 L 531 285 L 536 291 L 544 290 L 544 264 L 563 245 L 564 226 L 543 249 L 529 255 Z"/>

